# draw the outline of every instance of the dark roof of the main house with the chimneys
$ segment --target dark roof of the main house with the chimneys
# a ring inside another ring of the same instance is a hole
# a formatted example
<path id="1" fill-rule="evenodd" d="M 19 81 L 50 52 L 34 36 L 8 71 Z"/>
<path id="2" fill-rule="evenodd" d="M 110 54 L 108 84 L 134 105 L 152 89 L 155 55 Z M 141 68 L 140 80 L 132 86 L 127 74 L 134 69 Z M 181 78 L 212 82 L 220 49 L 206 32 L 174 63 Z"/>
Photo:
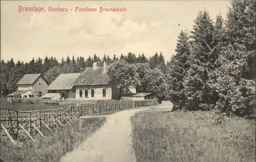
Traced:
<path id="1" fill-rule="evenodd" d="M 103 73 L 103 67 L 97 67 L 97 69 L 86 68 L 76 79 L 75 86 L 108 85 L 110 84 L 110 77 L 107 71 L 108 69 Z"/>

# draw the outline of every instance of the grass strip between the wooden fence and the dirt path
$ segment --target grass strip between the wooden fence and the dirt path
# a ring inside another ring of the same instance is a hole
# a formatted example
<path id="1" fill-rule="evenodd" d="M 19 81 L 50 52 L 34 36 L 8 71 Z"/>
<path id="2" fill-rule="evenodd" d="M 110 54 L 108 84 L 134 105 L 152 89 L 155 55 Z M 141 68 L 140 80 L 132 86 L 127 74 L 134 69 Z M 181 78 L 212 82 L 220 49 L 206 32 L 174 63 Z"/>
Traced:
<path id="1" fill-rule="evenodd" d="M 56 128 L 53 133 L 43 130 L 45 139 L 37 134 L 34 138 L 36 143 L 28 140 L 18 143 L 16 147 L 9 141 L 2 141 L 1 157 L 4 161 L 59 161 L 65 153 L 72 151 L 105 121 L 105 118 L 77 119 L 71 126 L 66 125 L 60 130 Z"/>

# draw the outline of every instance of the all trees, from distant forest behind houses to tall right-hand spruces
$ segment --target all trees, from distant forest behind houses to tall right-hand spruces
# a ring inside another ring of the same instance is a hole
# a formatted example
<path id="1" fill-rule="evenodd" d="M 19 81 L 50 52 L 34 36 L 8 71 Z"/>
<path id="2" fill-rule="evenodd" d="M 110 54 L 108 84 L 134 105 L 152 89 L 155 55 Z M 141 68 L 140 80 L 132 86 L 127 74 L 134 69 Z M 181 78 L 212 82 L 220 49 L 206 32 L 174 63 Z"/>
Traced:
<path id="1" fill-rule="evenodd" d="M 213 21 L 207 10 L 199 11 L 193 30 L 180 32 L 176 54 L 166 62 L 161 52 L 150 58 L 129 52 L 113 58 L 2 60 L 1 95 L 15 91 L 24 74 L 41 73 L 51 83 L 60 73 L 80 72 L 93 62 L 108 63 L 110 77 L 121 78 L 119 87 L 139 85 L 139 92 L 171 101 L 174 110 L 255 116 L 255 1 L 232 1 L 225 20 L 221 13 Z"/>

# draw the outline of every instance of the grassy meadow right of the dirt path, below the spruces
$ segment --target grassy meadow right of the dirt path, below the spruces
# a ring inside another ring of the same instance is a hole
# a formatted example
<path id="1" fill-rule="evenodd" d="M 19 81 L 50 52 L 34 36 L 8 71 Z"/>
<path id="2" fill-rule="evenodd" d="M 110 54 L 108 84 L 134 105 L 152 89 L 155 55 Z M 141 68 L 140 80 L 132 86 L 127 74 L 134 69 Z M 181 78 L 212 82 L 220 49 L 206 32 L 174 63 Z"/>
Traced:
<path id="1" fill-rule="evenodd" d="M 255 161 L 255 120 L 143 111 L 131 118 L 137 161 Z"/>

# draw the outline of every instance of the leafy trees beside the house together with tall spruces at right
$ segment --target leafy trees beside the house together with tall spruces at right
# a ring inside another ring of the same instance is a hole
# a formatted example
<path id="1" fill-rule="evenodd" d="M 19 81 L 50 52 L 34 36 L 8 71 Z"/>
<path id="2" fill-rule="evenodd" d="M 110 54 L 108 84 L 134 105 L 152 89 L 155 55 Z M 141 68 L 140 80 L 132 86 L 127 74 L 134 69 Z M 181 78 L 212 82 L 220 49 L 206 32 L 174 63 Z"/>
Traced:
<path id="1" fill-rule="evenodd" d="M 213 22 L 204 10 L 194 22 L 193 31 L 180 32 L 166 65 L 116 61 L 110 76 L 121 78 L 119 87 L 141 85 L 176 111 L 255 116 L 255 1 L 231 1 L 225 21 L 220 13 Z"/>

